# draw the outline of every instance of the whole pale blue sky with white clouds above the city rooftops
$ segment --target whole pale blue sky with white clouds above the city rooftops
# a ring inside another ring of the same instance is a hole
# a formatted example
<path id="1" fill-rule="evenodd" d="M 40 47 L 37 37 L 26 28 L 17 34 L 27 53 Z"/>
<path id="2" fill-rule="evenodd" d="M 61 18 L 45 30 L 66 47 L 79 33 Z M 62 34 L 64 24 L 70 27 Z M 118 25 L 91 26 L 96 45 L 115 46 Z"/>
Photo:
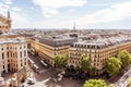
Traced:
<path id="1" fill-rule="evenodd" d="M 131 0 L 0 0 L 12 28 L 131 29 Z"/>

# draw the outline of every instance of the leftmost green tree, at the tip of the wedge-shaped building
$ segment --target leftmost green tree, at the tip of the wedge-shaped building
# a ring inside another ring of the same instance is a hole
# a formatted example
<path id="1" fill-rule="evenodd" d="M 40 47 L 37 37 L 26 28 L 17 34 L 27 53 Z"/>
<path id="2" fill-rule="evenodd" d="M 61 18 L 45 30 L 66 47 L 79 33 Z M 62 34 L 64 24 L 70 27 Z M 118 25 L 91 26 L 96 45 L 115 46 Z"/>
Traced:
<path id="1" fill-rule="evenodd" d="M 59 69 L 62 69 L 66 65 L 67 60 L 68 60 L 68 58 L 66 55 L 58 54 L 55 57 L 55 64 Z"/>

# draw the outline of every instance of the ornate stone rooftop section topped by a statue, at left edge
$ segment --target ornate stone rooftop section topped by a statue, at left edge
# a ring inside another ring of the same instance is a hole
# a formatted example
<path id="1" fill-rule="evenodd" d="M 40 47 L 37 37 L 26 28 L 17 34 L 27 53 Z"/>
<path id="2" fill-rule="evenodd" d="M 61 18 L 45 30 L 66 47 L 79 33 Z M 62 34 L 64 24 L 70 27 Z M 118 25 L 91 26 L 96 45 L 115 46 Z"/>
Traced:
<path id="1" fill-rule="evenodd" d="M 0 14 L 0 32 L 1 33 L 9 33 L 11 32 L 11 16 L 10 11 L 8 10 L 8 16 L 3 16 Z"/>

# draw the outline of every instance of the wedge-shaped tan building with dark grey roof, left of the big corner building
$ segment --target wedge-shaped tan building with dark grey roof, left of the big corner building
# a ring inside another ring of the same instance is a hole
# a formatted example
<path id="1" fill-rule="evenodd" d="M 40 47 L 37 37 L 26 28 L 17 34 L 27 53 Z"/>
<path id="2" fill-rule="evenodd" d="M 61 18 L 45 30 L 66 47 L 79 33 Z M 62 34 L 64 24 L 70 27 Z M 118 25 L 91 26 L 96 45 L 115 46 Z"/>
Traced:
<path id="1" fill-rule="evenodd" d="M 57 54 L 68 55 L 69 48 L 72 42 L 76 39 L 73 38 L 62 38 L 62 39 L 50 39 L 50 38 L 28 38 L 27 39 L 31 50 L 41 60 L 55 66 L 55 57 Z"/>

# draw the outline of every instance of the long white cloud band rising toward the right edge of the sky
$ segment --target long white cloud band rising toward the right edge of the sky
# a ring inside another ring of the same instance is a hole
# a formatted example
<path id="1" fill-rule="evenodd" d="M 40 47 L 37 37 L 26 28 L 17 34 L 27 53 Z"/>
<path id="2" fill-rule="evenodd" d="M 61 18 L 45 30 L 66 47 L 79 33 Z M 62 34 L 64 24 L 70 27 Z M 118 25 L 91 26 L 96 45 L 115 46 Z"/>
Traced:
<path id="1" fill-rule="evenodd" d="M 79 16 L 80 25 L 109 23 L 114 21 L 131 17 L 131 2 L 114 4 L 110 8 L 96 11 L 95 13 L 84 14 Z"/>

